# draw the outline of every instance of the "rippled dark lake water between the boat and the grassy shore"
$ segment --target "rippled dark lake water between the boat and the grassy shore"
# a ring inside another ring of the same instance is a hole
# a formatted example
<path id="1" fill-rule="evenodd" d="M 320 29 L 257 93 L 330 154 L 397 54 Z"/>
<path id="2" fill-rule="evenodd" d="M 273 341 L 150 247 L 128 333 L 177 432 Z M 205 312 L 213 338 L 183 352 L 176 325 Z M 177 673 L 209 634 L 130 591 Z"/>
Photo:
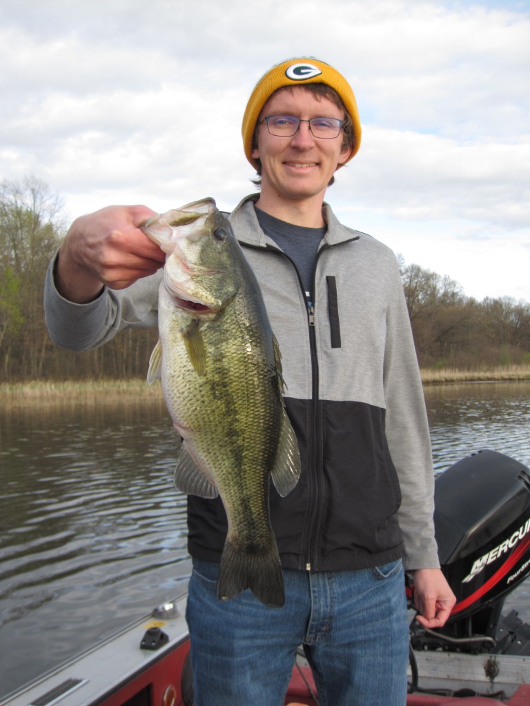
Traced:
<path id="1" fill-rule="evenodd" d="M 530 466 L 530 383 L 425 395 L 435 472 L 481 448 Z M 185 589 L 176 453 L 162 402 L 0 409 L 0 698 Z"/>

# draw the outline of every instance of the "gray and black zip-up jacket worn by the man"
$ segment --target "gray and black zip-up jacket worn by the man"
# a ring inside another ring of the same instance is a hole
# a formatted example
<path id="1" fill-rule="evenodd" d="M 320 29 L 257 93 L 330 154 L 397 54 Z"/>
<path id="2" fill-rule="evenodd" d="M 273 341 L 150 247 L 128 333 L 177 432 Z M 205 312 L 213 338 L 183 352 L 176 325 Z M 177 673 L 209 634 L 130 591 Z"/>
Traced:
<path id="1" fill-rule="evenodd" d="M 326 237 L 308 308 L 295 265 L 259 227 L 257 195 L 230 222 L 264 295 L 282 353 L 285 406 L 302 477 L 271 522 L 285 568 L 348 570 L 404 556 L 405 568 L 439 566 L 432 524 L 433 471 L 416 352 L 394 254 L 341 225 L 324 204 Z M 160 273 L 90 304 L 45 287 L 52 339 L 87 350 L 127 327 L 156 325 Z M 220 500 L 188 498 L 189 551 L 218 561 Z"/>

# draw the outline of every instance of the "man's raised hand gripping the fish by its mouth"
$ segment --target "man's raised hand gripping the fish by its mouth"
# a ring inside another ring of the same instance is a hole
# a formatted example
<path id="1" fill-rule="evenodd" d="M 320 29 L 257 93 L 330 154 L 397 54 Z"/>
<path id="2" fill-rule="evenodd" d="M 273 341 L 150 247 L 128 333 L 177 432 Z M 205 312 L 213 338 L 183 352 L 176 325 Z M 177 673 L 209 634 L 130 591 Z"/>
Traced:
<path id="1" fill-rule="evenodd" d="M 165 254 L 139 226 L 155 215 L 146 206 L 108 206 L 77 218 L 61 244 L 55 270 L 57 291 L 84 304 L 104 285 L 124 289 L 153 275 Z"/>

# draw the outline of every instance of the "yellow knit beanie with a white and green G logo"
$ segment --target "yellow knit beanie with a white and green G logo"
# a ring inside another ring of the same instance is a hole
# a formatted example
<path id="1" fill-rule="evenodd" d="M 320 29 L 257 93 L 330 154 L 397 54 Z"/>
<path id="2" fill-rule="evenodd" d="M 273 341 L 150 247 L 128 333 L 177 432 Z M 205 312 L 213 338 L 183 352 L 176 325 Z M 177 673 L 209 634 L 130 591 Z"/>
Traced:
<path id="1" fill-rule="evenodd" d="M 245 156 L 253 167 L 257 167 L 257 162 L 252 157 L 252 138 L 254 137 L 254 129 L 256 128 L 261 108 L 264 107 L 269 97 L 278 88 L 305 85 L 307 83 L 325 83 L 334 88 L 341 97 L 344 107 L 346 107 L 353 122 L 353 149 L 348 160 L 351 160 L 357 154 L 360 148 L 361 128 L 357 103 L 350 84 L 332 66 L 324 64 L 324 61 L 302 57 L 301 59 L 289 59 L 289 61 L 283 61 L 281 64 L 273 66 L 270 71 L 267 71 L 260 78 L 252 91 L 252 95 L 249 97 L 245 115 L 243 116 L 241 133 Z"/>

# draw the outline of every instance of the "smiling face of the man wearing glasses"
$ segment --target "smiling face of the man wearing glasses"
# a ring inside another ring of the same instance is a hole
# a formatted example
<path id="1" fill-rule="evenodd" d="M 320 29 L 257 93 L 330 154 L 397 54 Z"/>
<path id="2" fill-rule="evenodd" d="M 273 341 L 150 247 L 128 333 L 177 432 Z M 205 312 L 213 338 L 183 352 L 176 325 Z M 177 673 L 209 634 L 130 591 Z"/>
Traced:
<path id="1" fill-rule="evenodd" d="M 273 94 L 261 110 L 259 120 L 269 115 L 292 115 L 303 120 L 344 119 L 343 110 L 334 103 L 300 86 Z M 342 146 L 342 132 L 336 138 L 315 138 L 308 123 L 300 123 L 292 137 L 270 135 L 262 123 L 257 143 L 252 157 L 261 160 L 261 193 L 293 201 L 312 198 L 322 201 L 338 164 L 351 151 Z"/>

